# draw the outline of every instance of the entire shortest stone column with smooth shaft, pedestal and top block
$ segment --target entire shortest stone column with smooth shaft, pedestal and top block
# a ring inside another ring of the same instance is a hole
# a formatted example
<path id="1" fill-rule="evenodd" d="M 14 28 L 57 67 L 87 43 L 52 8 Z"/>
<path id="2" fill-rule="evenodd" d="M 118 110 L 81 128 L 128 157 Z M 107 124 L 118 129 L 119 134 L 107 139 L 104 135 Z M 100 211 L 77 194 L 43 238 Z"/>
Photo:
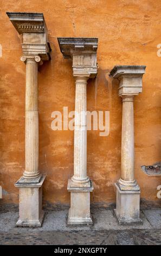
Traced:
<path id="1" fill-rule="evenodd" d="M 110 75 L 119 80 L 119 96 L 123 101 L 121 133 L 121 178 L 114 210 L 119 224 L 142 223 L 139 217 L 140 187 L 134 178 L 134 96 L 142 92 L 145 66 L 114 66 Z"/>

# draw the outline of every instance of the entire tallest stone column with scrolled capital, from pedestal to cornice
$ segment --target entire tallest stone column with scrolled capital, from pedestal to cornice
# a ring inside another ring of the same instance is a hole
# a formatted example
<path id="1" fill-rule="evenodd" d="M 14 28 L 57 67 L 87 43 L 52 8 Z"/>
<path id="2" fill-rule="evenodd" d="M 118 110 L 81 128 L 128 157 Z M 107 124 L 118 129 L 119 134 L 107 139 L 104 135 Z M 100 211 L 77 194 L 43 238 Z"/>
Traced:
<path id="1" fill-rule="evenodd" d="M 50 59 L 50 45 L 43 14 L 7 13 L 22 34 L 25 79 L 25 170 L 15 186 L 20 190 L 19 220 L 16 225 L 41 226 L 42 185 L 45 176 L 38 170 L 38 64 Z"/>

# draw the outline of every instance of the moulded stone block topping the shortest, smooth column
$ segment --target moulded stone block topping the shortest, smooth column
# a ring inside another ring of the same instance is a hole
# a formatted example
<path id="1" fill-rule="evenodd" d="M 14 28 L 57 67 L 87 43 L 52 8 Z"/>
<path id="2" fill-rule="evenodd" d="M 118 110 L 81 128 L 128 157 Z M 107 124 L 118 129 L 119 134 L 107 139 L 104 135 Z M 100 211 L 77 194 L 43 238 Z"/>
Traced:
<path id="1" fill-rule="evenodd" d="M 146 66 L 114 66 L 110 76 L 119 80 L 119 96 L 134 96 L 142 92 L 142 77 Z"/>

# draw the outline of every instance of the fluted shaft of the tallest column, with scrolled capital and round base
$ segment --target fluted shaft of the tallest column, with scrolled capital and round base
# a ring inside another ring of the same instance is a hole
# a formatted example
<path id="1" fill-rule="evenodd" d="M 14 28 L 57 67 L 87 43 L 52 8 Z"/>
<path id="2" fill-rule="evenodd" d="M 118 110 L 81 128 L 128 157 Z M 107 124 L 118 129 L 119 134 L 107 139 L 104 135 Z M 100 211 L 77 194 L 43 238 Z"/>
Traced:
<path id="1" fill-rule="evenodd" d="M 25 179 L 40 176 L 38 171 L 38 88 L 39 56 L 22 57 L 26 62 L 25 84 Z"/>

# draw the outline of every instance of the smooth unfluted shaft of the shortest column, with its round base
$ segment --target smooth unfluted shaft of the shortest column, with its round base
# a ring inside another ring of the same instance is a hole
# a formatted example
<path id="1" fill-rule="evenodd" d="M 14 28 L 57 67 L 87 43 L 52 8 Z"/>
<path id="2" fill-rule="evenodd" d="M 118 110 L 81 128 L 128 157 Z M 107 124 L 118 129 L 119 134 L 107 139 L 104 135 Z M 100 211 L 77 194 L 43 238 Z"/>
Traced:
<path id="1" fill-rule="evenodd" d="M 119 183 L 122 185 L 134 185 L 134 96 L 122 96 L 122 98 L 121 179 L 119 179 Z"/>

